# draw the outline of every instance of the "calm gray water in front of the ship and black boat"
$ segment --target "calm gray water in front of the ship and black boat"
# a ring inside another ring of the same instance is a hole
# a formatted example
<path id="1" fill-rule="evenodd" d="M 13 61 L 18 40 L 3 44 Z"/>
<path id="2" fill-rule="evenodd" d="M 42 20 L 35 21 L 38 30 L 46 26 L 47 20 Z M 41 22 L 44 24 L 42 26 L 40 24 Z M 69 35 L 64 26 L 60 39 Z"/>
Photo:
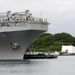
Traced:
<path id="1" fill-rule="evenodd" d="M 75 56 L 56 59 L 0 60 L 0 75 L 75 75 Z"/>

